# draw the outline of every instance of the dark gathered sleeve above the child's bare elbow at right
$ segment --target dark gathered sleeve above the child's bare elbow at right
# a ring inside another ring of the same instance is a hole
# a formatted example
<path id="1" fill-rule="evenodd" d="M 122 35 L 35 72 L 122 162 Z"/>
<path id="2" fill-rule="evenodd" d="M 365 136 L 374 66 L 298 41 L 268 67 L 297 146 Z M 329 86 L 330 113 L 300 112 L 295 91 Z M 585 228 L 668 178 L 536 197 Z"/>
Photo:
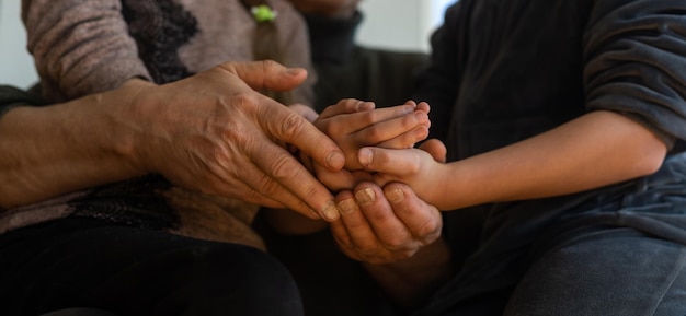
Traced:
<path id="1" fill-rule="evenodd" d="M 622 113 L 684 149 L 686 2 L 595 1 L 584 58 L 590 110 Z"/>

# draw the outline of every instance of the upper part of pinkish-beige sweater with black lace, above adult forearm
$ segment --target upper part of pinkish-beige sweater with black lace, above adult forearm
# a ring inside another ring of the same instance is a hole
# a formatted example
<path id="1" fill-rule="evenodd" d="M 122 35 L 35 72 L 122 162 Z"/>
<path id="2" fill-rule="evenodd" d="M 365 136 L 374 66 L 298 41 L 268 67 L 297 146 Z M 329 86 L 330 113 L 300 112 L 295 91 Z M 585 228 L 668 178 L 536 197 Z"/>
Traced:
<path id="1" fill-rule="evenodd" d="M 286 0 L 271 0 L 289 67 L 311 71 L 305 22 Z M 239 0 L 23 0 L 43 94 L 71 100 L 132 78 L 157 83 L 224 61 L 253 59 L 256 22 Z M 296 94 L 310 104 L 311 83 Z"/>

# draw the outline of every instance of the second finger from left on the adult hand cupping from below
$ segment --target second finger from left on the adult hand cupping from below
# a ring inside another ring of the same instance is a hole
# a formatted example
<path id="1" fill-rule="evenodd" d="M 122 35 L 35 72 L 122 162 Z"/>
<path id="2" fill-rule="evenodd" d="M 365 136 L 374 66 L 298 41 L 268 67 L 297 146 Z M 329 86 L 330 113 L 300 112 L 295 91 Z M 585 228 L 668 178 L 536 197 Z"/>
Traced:
<path id="1" fill-rule="evenodd" d="M 381 188 L 363 183 L 355 189 L 355 200 L 359 210 L 381 244 L 391 251 L 412 248 L 414 246 L 412 234 L 396 215 Z M 353 234 L 350 231 L 348 233 Z"/>

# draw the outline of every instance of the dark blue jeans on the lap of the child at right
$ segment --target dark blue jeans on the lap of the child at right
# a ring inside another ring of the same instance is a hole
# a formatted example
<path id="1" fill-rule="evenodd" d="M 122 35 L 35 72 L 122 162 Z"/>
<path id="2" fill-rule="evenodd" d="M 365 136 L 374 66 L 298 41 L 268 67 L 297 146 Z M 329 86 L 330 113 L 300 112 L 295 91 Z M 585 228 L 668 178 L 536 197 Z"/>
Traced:
<path id="1" fill-rule="evenodd" d="M 477 250 L 419 315 L 686 315 L 686 155 L 649 177 L 478 211 Z"/>

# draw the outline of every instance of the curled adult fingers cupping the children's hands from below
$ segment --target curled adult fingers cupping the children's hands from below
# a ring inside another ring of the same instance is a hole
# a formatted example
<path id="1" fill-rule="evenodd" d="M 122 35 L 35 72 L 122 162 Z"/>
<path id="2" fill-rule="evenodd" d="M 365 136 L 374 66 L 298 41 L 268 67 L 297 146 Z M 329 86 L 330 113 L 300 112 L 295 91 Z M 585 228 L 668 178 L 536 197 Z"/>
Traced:
<path id="1" fill-rule="evenodd" d="M 441 236 L 443 220 L 433 206 L 410 187 L 392 183 L 381 187 L 362 183 L 342 191 L 336 201 L 341 218 L 331 232 L 348 257 L 368 264 L 390 264 L 412 257 Z"/>

